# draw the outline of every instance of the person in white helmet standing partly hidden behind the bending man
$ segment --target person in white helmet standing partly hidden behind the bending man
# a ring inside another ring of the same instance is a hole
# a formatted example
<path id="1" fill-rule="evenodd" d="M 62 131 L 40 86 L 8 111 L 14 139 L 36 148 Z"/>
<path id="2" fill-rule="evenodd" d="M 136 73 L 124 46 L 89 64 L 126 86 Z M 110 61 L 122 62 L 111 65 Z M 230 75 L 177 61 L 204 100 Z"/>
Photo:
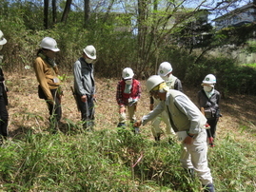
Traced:
<path id="1" fill-rule="evenodd" d="M 170 89 L 176 89 L 183 92 L 182 83 L 181 81 L 172 75 L 172 67 L 170 63 L 163 62 L 160 64 L 158 68 L 158 75 L 162 77 L 162 79 L 167 83 L 167 86 Z M 159 104 L 159 100 L 154 99 L 154 97 L 150 96 L 150 106 L 149 109 L 153 110 L 156 106 Z M 171 128 L 171 125 L 168 120 L 167 112 L 163 111 L 159 116 L 157 116 L 153 121 L 151 121 L 151 131 L 153 133 L 153 136 L 155 138 L 156 142 L 160 141 L 161 136 L 161 129 L 160 124 L 161 121 L 163 121 L 166 124 L 166 133 L 168 135 L 175 134 L 173 129 Z"/>

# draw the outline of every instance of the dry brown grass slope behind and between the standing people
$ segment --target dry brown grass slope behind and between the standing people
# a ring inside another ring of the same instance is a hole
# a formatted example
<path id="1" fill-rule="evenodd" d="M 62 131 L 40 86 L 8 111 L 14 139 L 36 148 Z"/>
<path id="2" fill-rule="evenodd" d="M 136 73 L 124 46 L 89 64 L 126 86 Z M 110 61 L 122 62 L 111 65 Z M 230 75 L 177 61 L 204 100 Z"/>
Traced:
<path id="1" fill-rule="evenodd" d="M 32 70 L 23 73 L 5 73 L 9 86 L 9 113 L 10 113 L 10 138 L 17 138 L 32 129 L 34 133 L 45 131 L 48 128 L 48 109 L 43 100 L 37 96 L 37 81 Z M 97 104 L 96 104 L 96 127 L 115 128 L 118 123 L 118 107 L 115 101 L 115 90 L 118 79 L 96 78 Z M 141 118 L 149 111 L 149 99 L 146 93 L 145 81 L 141 81 L 143 86 L 142 98 L 139 101 L 137 117 Z M 63 83 L 64 98 L 63 120 L 73 123 L 80 121 L 80 113 L 77 111 L 70 86 L 73 85 L 72 75 Z M 185 86 L 185 93 L 196 103 L 198 88 Z M 236 140 L 246 139 L 255 142 L 256 134 L 256 97 L 248 95 L 229 95 L 221 102 L 223 118 L 218 125 L 218 139 L 222 139 L 227 134 L 235 134 Z M 42 119 L 40 119 L 42 117 Z M 146 126 L 145 128 L 147 128 Z M 148 131 L 148 138 L 152 139 Z"/>

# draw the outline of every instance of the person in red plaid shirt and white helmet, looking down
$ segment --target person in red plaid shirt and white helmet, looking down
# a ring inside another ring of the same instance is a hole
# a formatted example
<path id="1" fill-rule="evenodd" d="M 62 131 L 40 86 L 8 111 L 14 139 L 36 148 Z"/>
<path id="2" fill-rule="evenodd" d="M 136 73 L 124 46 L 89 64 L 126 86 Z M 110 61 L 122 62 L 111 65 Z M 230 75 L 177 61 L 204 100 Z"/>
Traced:
<path id="1" fill-rule="evenodd" d="M 126 110 L 128 109 L 129 122 L 133 124 L 136 120 L 135 112 L 137 102 L 141 97 L 141 83 L 133 78 L 134 73 L 130 67 L 122 72 L 122 80 L 118 82 L 116 89 L 116 101 L 119 106 L 119 123 L 117 127 L 126 126 Z"/>

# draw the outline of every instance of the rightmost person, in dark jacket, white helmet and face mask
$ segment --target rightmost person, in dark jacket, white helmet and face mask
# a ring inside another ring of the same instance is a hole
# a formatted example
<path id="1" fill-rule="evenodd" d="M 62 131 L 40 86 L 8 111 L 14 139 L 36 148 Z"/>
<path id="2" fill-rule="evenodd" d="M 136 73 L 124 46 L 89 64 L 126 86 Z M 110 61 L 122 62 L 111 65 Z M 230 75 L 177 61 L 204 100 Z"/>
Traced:
<path id="1" fill-rule="evenodd" d="M 216 127 L 219 121 L 220 114 L 220 100 L 221 94 L 218 90 L 214 88 L 216 84 L 216 77 L 212 74 L 207 74 L 202 82 L 203 89 L 198 92 L 198 105 L 203 114 L 207 118 L 207 124 L 209 129 L 207 129 L 207 139 L 208 144 L 213 147 L 214 139 L 216 136 Z"/>

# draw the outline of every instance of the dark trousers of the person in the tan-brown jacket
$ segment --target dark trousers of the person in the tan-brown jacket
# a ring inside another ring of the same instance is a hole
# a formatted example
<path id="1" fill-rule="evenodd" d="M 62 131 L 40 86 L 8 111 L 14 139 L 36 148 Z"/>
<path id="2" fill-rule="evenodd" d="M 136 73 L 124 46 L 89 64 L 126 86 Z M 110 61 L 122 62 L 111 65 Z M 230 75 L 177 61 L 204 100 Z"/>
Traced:
<path id="1" fill-rule="evenodd" d="M 60 96 L 57 94 L 57 89 L 50 89 L 50 92 L 54 99 L 54 104 L 50 104 L 49 101 L 45 99 L 49 109 L 49 126 L 50 128 L 57 129 L 58 123 L 62 117 L 61 100 Z"/>

